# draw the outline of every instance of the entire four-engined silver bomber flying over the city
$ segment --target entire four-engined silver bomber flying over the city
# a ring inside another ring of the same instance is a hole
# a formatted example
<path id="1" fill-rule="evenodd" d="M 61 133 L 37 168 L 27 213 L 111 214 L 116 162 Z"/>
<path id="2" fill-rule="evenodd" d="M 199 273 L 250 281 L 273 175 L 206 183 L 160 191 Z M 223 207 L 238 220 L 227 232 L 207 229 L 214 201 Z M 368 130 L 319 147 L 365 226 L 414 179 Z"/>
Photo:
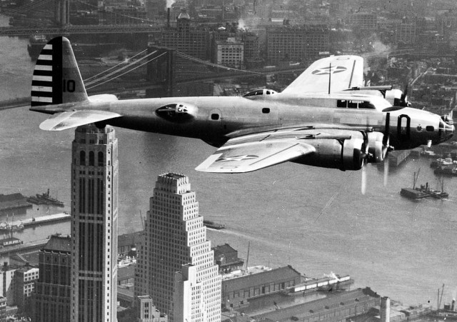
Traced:
<path id="1" fill-rule="evenodd" d="M 359 56 L 319 59 L 281 93 L 118 100 L 86 94 L 60 36 L 42 49 L 31 85 L 31 111 L 54 114 L 40 129 L 94 123 L 201 139 L 218 149 L 198 171 L 242 173 L 285 161 L 359 170 L 391 149 L 439 144 L 454 132 L 451 116 L 408 107 L 406 94 L 390 87 L 364 87 Z"/>

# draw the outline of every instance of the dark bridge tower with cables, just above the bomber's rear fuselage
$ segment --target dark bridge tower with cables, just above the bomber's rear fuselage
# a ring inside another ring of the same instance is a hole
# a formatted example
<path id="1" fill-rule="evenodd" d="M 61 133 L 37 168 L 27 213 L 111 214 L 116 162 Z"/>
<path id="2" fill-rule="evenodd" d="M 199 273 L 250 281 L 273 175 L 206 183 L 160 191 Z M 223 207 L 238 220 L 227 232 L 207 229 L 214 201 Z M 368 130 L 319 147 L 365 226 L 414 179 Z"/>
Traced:
<path id="1" fill-rule="evenodd" d="M 156 51 L 153 57 L 159 58 L 149 61 L 146 79 L 151 88 L 146 89 L 146 97 L 173 96 L 175 51 L 161 46 L 148 46 L 148 54 Z"/>

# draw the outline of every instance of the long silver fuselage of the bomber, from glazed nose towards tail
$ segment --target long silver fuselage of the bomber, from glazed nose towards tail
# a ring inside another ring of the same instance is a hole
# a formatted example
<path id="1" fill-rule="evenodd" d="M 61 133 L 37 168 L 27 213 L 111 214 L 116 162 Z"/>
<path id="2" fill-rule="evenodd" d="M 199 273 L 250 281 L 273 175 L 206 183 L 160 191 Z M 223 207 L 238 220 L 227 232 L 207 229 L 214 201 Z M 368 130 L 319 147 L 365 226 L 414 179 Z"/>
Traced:
<path id="1" fill-rule="evenodd" d="M 275 94 L 248 99 L 243 96 L 220 97 L 170 97 L 159 99 L 134 99 L 110 102 L 81 103 L 78 110 L 102 110 L 122 116 L 106 121 L 106 124 L 126 129 L 148 131 L 175 136 L 202 139 L 213 146 L 221 146 L 238 134 L 278 127 L 298 127 L 302 124 L 333 127 L 353 126 L 366 131 L 386 131 L 386 118 L 391 145 L 395 149 L 412 149 L 429 140 L 433 144 L 448 139 L 452 134 L 441 116 L 428 111 L 404 108 L 389 113 L 383 101 L 367 96 L 286 96 Z M 183 102 L 182 104 L 180 102 Z M 341 102 L 346 101 L 346 107 Z M 354 105 L 358 102 L 358 106 Z M 184 103 L 185 102 L 185 103 Z M 215 104 L 215 102 L 217 104 Z M 347 103 L 349 102 L 349 103 Z M 381 106 L 376 106 L 380 104 Z M 181 109 L 179 111 L 179 104 Z M 352 106 L 351 106 L 352 104 Z M 365 104 L 365 106 L 363 106 Z M 164 106 L 171 106 L 166 107 Z M 67 111 L 62 106 L 56 113 Z M 184 111 L 185 109 L 185 111 Z"/>

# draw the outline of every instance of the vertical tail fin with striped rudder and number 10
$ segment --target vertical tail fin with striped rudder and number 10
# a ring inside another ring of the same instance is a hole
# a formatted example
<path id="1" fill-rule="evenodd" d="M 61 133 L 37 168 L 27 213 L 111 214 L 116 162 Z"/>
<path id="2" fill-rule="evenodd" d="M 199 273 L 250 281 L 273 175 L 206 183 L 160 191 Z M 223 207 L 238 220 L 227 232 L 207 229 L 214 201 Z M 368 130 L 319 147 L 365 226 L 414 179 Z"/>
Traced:
<path id="1" fill-rule="evenodd" d="M 51 39 L 41 50 L 31 81 L 31 108 L 88 101 L 78 64 L 65 37 Z"/>

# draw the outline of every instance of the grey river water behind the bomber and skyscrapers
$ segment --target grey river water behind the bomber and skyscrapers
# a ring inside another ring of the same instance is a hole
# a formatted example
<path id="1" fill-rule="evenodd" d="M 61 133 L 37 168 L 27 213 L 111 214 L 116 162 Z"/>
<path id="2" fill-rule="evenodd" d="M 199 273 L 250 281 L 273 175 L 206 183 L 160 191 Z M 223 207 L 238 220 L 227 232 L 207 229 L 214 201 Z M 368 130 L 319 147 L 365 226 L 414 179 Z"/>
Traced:
<path id="1" fill-rule="evenodd" d="M 0 77 L 9 80 L 1 86 L 1 96 L 27 96 L 33 64 L 27 60 L 26 40 L 0 38 L 0 44 Z M 55 212 L 69 211 L 74 131 L 39 130 L 48 116 L 28 107 L 0 114 L 0 193 L 29 196 L 50 188 L 66 204 Z M 419 183 L 436 185 L 426 159 L 391 171 L 386 187 L 382 171 L 369 166 L 363 196 L 360 171 L 285 163 L 241 175 L 199 173 L 194 168 L 214 151 L 202 141 L 124 129 L 116 134 L 119 233 L 141 230 L 140 212 L 146 216 L 156 176 L 176 171 L 189 176 L 201 215 L 226 224 L 223 231 L 209 230 L 212 245 L 230 243 L 246 258 L 250 241 L 250 266 L 291 264 L 313 277 L 330 271 L 348 274 L 356 286 L 411 304 L 436 305 L 436 289 L 443 283 L 443 302 L 456 296 L 457 180 L 445 182 L 447 200 L 415 202 L 399 195 L 411 186 L 418 168 Z M 69 223 L 27 229 L 16 237 L 26 241 L 54 232 L 69 233 Z"/>

